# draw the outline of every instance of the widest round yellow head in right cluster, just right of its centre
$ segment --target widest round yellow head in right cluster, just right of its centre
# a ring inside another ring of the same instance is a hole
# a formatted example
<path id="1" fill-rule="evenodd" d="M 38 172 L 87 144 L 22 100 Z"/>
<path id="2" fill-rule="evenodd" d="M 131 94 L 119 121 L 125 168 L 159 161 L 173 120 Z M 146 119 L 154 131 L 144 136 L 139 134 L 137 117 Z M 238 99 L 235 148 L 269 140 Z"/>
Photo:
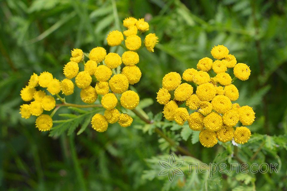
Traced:
<path id="1" fill-rule="evenodd" d="M 196 95 L 202 101 L 211 101 L 215 94 L 216 90 L 210 83 L 201 84 L 196 88 Z"/>

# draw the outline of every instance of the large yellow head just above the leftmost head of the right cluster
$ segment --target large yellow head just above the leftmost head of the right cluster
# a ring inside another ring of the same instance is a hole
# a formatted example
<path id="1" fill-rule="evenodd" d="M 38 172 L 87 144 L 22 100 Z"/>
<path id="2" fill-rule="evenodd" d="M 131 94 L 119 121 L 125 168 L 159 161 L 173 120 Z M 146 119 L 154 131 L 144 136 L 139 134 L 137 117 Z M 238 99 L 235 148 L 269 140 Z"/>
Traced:
<path id="1" fill-rule="evenodd" d="M 181 76 L 179 73 L 170 72 L 162 79 L 162 87 L 167 90 L 175 90 L 181 83 Z"/>

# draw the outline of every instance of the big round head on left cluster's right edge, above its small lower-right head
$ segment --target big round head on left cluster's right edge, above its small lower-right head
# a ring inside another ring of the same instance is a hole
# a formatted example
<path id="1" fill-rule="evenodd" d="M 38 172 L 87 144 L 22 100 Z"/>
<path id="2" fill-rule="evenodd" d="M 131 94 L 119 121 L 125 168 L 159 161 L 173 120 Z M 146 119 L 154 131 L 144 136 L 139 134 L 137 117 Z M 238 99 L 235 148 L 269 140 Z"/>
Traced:
<path id="1" fill-rule="evenodd" d="M 138 106 L 140 98 L 134 91 L 128 90 L 122 93 L 120 97 L 120 104 L 129 110 L 133 110 Z"/>

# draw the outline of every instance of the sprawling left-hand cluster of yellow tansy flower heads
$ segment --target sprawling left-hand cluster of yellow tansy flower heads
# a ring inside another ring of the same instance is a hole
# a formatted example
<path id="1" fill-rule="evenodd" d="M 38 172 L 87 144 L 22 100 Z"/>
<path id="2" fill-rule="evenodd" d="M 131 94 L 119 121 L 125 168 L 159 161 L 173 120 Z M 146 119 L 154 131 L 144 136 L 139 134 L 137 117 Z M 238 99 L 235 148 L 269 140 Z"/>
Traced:
<path id="1" fill-rule="evenodd" d="M 123 26 L 127 28 L 123 33 L 113 30 L 106 38 L 108 45 L 112 47 L 119 45 L 124 47 L 122 44 L 124 41 L 126 47 L 124 48 L 127 51 L 122 56 L 117 53 L 107 54 L 103 47 L 96 47 L 90 51 L 89 60 L 85 62 L 83 51 L 74 49 L 71 51 L 70 62 L 63 69 L 66 78 L 62 81 L 54 78 L 49 72 L 43 72 L 39 76 L 34 73 L 30 77 L 28 86 L 21 90 L 21 98 L 24 101 L 31 101 L 30 104 L 21 105 L 22 118 L 38 116 L 36 127 L 41 131 L 50 130 L 53 120 L 50 115 L 42 114 L 43 111 L 51 111 L 55 108 L 56 100 L 53 95 L 59 97 L 60 91 L 65 96 L 71 95 L 76 85 L 81 88 L 80 97 L 87 104 L 94 103 L 98 95 L 102 96 L 101 104 L 106 110 L 104 115 L 97 113 L 92 117 L 92 128 L 98 132 L 104 132 L 109 123 L 116 122 L 122 127 L 130 126 L 133 119 L 130 115 L 122 113 L 120 105 L 129 110 L 138 106 L 138 94 L 128 90 L 129 84 L 138 83 L 141 78 L 141 70 L 136 66 L 139 63 L 137 51 L 145 46 L 149 52 L 154 52 L 158 37 L 150 33 L 142 43 L 139 35 L 149 30 L 149 24 L 144 19 L 129 17 L 123 20 Z M 84 71 L 79 72 L 80 63 L 84 64 Z M 116 70 L 113 69 L 122 63 L 125 67 L 121 73 L 116 74 Z M 95 87 L 91 86 L 91 76 L 95 76 L 97 80 Z M 75 78 L 74 82 L 71 80 L 73 78 Z M 37 87 L 47 88 L 51 95 L 46 95 L 43 90 L 36 90 Z"/>

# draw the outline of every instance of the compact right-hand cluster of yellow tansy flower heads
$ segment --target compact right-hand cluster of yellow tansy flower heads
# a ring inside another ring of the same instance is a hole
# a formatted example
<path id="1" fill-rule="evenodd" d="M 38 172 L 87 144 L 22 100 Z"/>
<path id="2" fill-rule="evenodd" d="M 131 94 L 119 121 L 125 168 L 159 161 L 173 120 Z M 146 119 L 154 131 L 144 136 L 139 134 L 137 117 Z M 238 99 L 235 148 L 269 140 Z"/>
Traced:
<path id="1" fill-rule="evenodd" d="M 195 84 L 195 93 L 189 83 L 181 84 L 180 74 L 170 72 L 162 80 L 157 101 L 164 104 L 163 113 L 168 121 L 175 121 L 179 125 L 187 121 L 190 129 L 200 131 L 199 141 L 204 147 L 213 147 L 218 141 L 225 143 L 232 139 L 237 144 L 247 143 L 251 132 L 244 126 L 253 123 L 255 113 L 247 105 L 240 107 L 237 103 L 231 103 L 239 98 L 239 92 L 232 82 L 236 78 L 247 80 L 251 70 L 246 64 L 237 63 L 223 45 L 214 46 L 211 55 L 215 61 L 202 58 L 197 70 L 190 68 L 182 74 L 183 80 Z M 233 79 L 226 73 L 228 68 L 233 68 Z M 215 77 L 210 77 L 211 70 L 216 73 Z M 172 96 L 173 100 L 170 100 Z M 181 105 L 183 107 L 179 107 Z M 187 108 L 193 113 L 189 114 Z M 239 121 L 243 126 L 234 130 Z"/>

